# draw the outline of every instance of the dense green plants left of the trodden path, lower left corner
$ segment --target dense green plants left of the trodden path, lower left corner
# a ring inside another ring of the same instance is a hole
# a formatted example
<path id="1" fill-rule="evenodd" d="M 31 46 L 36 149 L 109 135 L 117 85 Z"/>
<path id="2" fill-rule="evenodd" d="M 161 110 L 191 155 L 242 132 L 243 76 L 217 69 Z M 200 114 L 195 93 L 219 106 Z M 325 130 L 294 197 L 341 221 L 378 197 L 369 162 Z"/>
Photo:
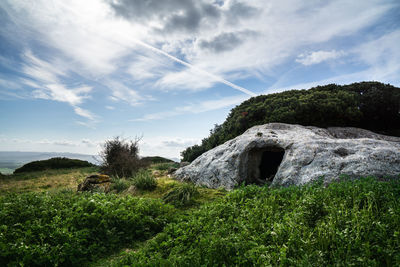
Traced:
<path id="1" fill-rule="evenodd" d="M 81 266 L 173 219 L 161 200 L 72 192 L 0 197 L 0 266 Z"/>

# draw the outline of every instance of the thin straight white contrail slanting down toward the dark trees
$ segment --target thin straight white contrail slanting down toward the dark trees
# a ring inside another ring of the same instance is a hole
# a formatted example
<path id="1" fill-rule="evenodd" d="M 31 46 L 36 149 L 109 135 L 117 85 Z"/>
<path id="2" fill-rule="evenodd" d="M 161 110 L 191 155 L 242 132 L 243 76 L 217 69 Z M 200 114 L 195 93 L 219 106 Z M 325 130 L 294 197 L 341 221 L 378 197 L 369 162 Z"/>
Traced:
<path id="1" fill-rule="evenodd" d="M 175 62 L 178 62 L 178 63 L 180 63 L 180 64 L 182 64 L 182 65 L 184 65 L 184 66 L 186 66 L 186 67 L 188 67 L 190 69 L 196 70 L 197 72 L 200 72 L 200 73 L 202 73 L 204 75 L 207 75 L 207 76 L 211 77 L 212 79 L 214 79 L 214 80 L 216 80 L 218 82 L 221 82 L 223 84 L 226 84 L 226 85 L 228 85 L 229 87 L 231 87 L 233 89 L 239 90 L 239 91 L 241 91 L 241 92 L 243 92 L 245 94 L 248 94 L 250 96 L 257 96 L 257 94 L 253 93 L 252 91 L 250 91 L 250 90 L 248 90 L 246 88 L 243 88 L 243 87 L 241 87 L 239 85 L 231 83 L 230 81 L 227 81 L 227 80 L 225 80 L 225 79 L 223 79 L 223 78 L 221 78 L 221 77 L 219 77 L 219 76 L 217 76 L 215 74 L 212 74 L 212 73 L 210 73 L 208 71 L 200 69 L 200 68 L 198 68 L 198 67 L 196 67 L 196 66 L 194 66 L 194 65 L 192 65 L 192 64 L 190 64 L 190 63 L 188 63 L 186 61 L 183 61 L 183 60 L 181 60 L 181 59 L 179 59 L 177 57 L 174 57 L 174 56 L 168 54 L 167 52 L 165 52 L 165 51 L 163 51 L 161 49 L 158 49 L 158 48 L 156 48 L 154 46 L 146 44 L 146 43 L 144 43 L 144 42 L 142 42 L 140 40 L 137 40 L 135 38 L 132 38 L 132 39 L 135 41 L 135 43 L 137 43 L 137 44 L 139 44 L 139 45 L 141 45 L 141 46 L 143 46 L 143 47 L 145 47 L 147 49 L 150 49 L 150 50 L 152 50 L 152 51 L 154 51 L 156 53 L 162 54 L 162 55 L 174 60 Z"/>

